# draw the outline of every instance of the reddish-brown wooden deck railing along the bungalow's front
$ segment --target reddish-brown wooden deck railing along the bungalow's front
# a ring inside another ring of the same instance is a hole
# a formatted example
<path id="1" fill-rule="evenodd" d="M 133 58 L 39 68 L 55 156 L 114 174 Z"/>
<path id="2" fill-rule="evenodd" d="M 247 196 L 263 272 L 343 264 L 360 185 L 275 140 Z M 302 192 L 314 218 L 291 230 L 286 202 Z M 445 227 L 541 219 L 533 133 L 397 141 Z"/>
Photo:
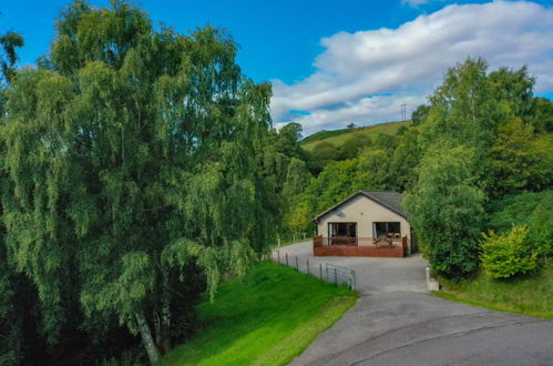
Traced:
<path id="1" fill-rule="evenodd" d="M 400 245 L 324 245 L 325 238 L 313 238 L 313 254 L 315 256 L 371 256 L 382 258 L 402 258 L 407 254 L 407 237 L 401 238 Z"/>

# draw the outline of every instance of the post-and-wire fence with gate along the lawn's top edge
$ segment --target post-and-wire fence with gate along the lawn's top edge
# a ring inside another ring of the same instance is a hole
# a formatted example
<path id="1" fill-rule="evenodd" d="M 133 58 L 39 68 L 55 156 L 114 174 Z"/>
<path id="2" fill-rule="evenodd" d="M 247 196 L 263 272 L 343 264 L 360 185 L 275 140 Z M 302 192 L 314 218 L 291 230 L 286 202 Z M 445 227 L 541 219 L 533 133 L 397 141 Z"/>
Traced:
<path id="1" fill-rule="evenodd" d="M 337 286 L 347 286 L 350 289 L 356 289 L 356 272 L 351 268 L 342 267 L 330 263 L 309 263 L 309 258 L 299 257 L 297 255 L 280 254 L 280 251 L 275 251 L 272 256 L 274 262 L 296 268 L 296 271 L 318 277 L 321 281 L 336 284 Z"/>

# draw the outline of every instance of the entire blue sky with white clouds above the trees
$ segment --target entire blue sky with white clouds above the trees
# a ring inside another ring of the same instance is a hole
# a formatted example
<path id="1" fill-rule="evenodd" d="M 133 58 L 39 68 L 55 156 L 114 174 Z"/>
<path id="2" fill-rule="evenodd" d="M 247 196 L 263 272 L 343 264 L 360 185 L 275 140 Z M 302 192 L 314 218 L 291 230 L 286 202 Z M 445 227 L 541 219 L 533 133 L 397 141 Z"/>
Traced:
<path id="1" fill-rule="evenodd" d="M 20 32 L 20 64 L 48 53 L 70 0 L 0 0 L 0 33 Z M 92 0 L 106 6 L 106 0 Z M 553 0 L 143 0 L 155 23 L 180 32 L 207 23 L 240 45 L 237 62 L 273 83 L 272 115 L 304 134 L 371 125 L 410 113 L 448 68 L 483 57 L 490 70 L 528 65 L 536 95 L 553 99 Z"/>

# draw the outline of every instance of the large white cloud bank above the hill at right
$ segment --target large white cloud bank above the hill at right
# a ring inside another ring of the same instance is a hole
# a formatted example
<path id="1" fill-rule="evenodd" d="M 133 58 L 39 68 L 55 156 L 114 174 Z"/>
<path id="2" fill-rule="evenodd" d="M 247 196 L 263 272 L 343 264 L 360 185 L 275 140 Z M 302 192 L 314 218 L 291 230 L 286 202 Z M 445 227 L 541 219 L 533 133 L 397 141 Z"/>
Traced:
<path id="1" fill-rule="evenodd" d="M 532 2 L 453 4 L 397 29 L 339 32 L 320 43 L 310 77 L 273 84 L 274 120 L 297 121 L 306 133 L 398 120 L 401 103 L 413 110 L 467 57 L 484 57 L 492 70 L 528 64 L 536 91 L 553 90 L 553 9 Z M 293 110 L 310 114 L 293 119 Z"/>

